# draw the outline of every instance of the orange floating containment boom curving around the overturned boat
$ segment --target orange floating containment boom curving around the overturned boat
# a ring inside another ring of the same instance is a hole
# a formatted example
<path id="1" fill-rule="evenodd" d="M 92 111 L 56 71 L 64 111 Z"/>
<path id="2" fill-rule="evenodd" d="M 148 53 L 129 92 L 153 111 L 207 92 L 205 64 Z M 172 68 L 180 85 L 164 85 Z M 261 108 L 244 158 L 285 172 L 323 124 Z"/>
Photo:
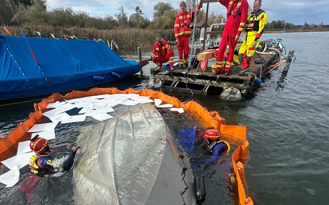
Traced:
<path id="1" fill-rule="evenodd" d="M 208 109 L 203 108 L 201 105 L 194 101 L 188 101 L 185 103 L 180 102 L 177 98 L 171 97 L 169 95 L 164 94 L 159 91 L 151 91 L 151 90 L 140 90 L 135 91 L 132 88 L 129 88 L 124 91 L 119 91 L 116 88 L 93 88 L 89 91 L 72 91 L 67 93 L 65 96 L 55 93 L 49 96 L 48 98 L 43 99 L 38 104 L 34 104 L 34 108 L 36 112 L 31 113 L 30 119 L 25 120 L 17 124 L 17 128 L 15 128 L 11 133 L 7 136 L 0 138 L 0 161 L 3 161 L 17 153 L 17 146 L 19 142 L 28 140 L 30 136 L 27 134 L 27 131 L 33 127 L 35 124 L 39 124 L 41 122 L 41 110 L 45 109 L 49 103 L 54 103 L 56 101 L 63 101 L 64 99 L 70 98 L 79 98 L 86 97 L 91 95 L 101 95 L 101 94 L 118 94 L 118 93 L 132 93 L 139 94 L 141 96 L 151 96 L 154 98 L 160 98 L 164 102 L 173 104 L 177 107 L 183 107 L 185 110 L 194 111 L 191 112 L 197 113 L 202 117 L 202 119 L 210 124 L 210 126 L 215 127 L 220 130 L 221 133 L 232 135 L 234 138 L 238 138 L 240 142 L 242 142 L 238 148 L 232 154 L 232 163 L 233 169 L 235 172 L 236 179 L 235 181 L 238 183 L 238 194 L 239 194 L 239 204 L 253 204 L 253 201 L 250 197 L 246 198 L 247 190 L 244 190 L 243 185 L 246 185 L 244 178 L 244 169 L 243 163 L 248 154 L 249 143 L 247 141 L 247 127 L 238 126 L 238 125 L 226 125 L 226 120 L 219 116 L 219 114 L 215 111 L 209 112 Z M 38 122 L 38 123 L 37 123 Z M 236 139 L 232 139 L 236 141 Z"/>

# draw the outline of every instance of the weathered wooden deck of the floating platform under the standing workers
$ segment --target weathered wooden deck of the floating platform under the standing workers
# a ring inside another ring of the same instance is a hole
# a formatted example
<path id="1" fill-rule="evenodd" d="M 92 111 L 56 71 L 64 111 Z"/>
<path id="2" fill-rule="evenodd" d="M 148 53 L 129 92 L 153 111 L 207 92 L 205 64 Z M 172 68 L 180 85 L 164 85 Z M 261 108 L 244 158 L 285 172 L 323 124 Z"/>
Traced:
<path id="1" fill-rule="evenodd" d="M 213 52 L 203 52 L 198 54 L 198 60 L 207 60 L 215 57 Z M 252 58 L 252 63 L 249 67 L 250 74 L 239 75 L 242 70 L 239 65 L 233 65 L 229 75 L 224 75 L 224 72 L 215 75 L 212 68 L 206 68 L 202 71 L 200 68 L 186 67 L 181 69 L 176 67 L 174 71 L 151 68 L 151 76 L 161 79 L 164 82 L 165 89 L 183 91 L 188 87 L 194 93 L 207 95 L 208 92 L 222 92 L 223 90 L 234 87 L 246 94 L 254 85 L 256 77 L 261 78 L 264 74 L 270 71 L 280 60 L 280 55 L 277 52 L 270 52 L 261 55 L 265 59 L 265 63 L 256 64 L 254 61 L 258 59 L 257 55 Z M 235 63 L 238 64 L 238 63 Z M 199 63 L 200 65 L 200 63 Z M 199 67 L 198 65 L 198 67 Z"/>

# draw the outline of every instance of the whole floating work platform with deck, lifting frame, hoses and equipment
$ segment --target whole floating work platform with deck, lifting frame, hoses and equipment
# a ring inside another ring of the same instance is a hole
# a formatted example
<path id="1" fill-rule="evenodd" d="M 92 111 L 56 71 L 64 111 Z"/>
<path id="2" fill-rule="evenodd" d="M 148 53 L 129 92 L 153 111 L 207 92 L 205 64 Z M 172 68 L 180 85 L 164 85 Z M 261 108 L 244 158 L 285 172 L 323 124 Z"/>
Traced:
<path id="1" fill-rule="evenodd" d="M 205 0 L 203 1 L 203 5 L 207 5 L 206 9 L 206 19 L 205 25 L 207 25 L 208 19 L 208 10 L 209 10 L 209 3 L 217 2 L 214 0 Z M 251 9 L 249 8 L 249 12 L 251 13 Z M 248 13 L 249 13 L 248 12 Z M 225 24 L 218 24 L 219 26 L 223 26 Z M 216 28 L 216 26 L 214 26 Z M 215 75 L 214 74 L 214 66 L 210 67 L 211 64 L 208 66 L 206 64 L 206 68 L 203 71 L 200 68 L 201 61 L 212 61 L 214 65 L 216 62 L 215 55 L 212 51 L 207 51 L 207 49 L 215 49 L 216 46 L 218 48 L 218 43 L 213 45 L 216 40 L 220 40 L 220 37 L 223 31 L 212 31 L 213 25 L 206 30 L 203 28 L 201 29 L 200 39 L 198 43 L 190 45 L 190 54 L 193 52 L 195 58 L 197 58 L 197 63 L 193 67 L 193 63 L 189 63 L 189 68 L 185 67 L 181 69 L 179 66 L 175 67 L 175 70 L 166 70 L 166 69 L 157 69 L 151 68 L 151 77 L 153 79 L 160 79 L 164 83 L 164 88 L 166 90 L 174 90 L 174 91 L 186 91 L 188 87 L 193 91 L 193 93 L 207 95 L 209 92 L 221 93 L 223 90 L 233 87 L 245 95 L 247 94 L 255 84 L 255 80 L 258 83 L 260 79 L 267 74 L 268 72 L 277 69 L 279 65 L 286 62 L 285 68 L 283 72 L 288 72 L 290 67 L 290 63 L 293 60 L 294 50 L 291 50 L 287 55 L 282 54 L 283 49 L 286 48 L 281 44 L 282 39 L 265 39 L 259 42 L 259 45 L 256 49 L 256 52 L 251 59 L 249 73 L 245 75 L 239 75 L 239 72 L 242 70 L 241 66 L 237 59 L 233 61 L 233 66 L 231 66 L 231 70 L 229 75 L 224 75 L 223 71 Z M 218 28 L 218 26 L 217 26 Z M 214 34 L 218 35 L 217 38 L 211 38 L 211 35 Z M 242 44 L 243 38 L 238 41 L 237 46 L 235 47 L 234 54 L 238 55 L 240 46 Z M 218 50 L 218 49 L 217 49 Z M 228 52 L 228 46 L 226 52 Z M 203 51 L 203 52 L 202 52 Z M 286 52 L 286 50 L 285 50 Z M 281 59 L 281 56 L 284 56 Z M 255 63 L 257 59 L 263 58 L 265 62 L 263 63 Z M 226 59 L 224 58 L 224 61 Z"/>

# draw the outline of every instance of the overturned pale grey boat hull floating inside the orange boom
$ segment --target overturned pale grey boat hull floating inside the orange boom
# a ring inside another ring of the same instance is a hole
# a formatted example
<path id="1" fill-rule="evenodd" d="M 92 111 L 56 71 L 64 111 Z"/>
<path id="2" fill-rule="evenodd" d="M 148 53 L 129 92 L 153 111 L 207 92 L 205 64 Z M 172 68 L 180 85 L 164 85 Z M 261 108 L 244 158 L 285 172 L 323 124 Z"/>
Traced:
<path id="1" fill-rule="evenodd" d="M 189 159 L 149 103 L 121 106 L 81 129 L 74 166 L 77 204 L 195 204 Z"/>

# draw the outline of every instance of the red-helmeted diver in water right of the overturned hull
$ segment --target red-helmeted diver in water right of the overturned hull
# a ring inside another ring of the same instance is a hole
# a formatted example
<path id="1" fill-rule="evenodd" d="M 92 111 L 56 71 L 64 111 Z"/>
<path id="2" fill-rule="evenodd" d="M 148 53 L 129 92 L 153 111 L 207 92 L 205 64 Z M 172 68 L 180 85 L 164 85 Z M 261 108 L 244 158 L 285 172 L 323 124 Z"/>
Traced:
<path id="1" fill-rule="evenodd" d="M 228 154 L 231 148 L 228 142 L 219 140 L 220 132 L 217 129 L 214 129 L 214 127 L 208 127 L 206 130 L 204 137 L 208 142 L 207 150 L 213 154 L 210 159 L 204 159 L 203 161 L 213 162 L 221 154 L 225 152 Z"/>

